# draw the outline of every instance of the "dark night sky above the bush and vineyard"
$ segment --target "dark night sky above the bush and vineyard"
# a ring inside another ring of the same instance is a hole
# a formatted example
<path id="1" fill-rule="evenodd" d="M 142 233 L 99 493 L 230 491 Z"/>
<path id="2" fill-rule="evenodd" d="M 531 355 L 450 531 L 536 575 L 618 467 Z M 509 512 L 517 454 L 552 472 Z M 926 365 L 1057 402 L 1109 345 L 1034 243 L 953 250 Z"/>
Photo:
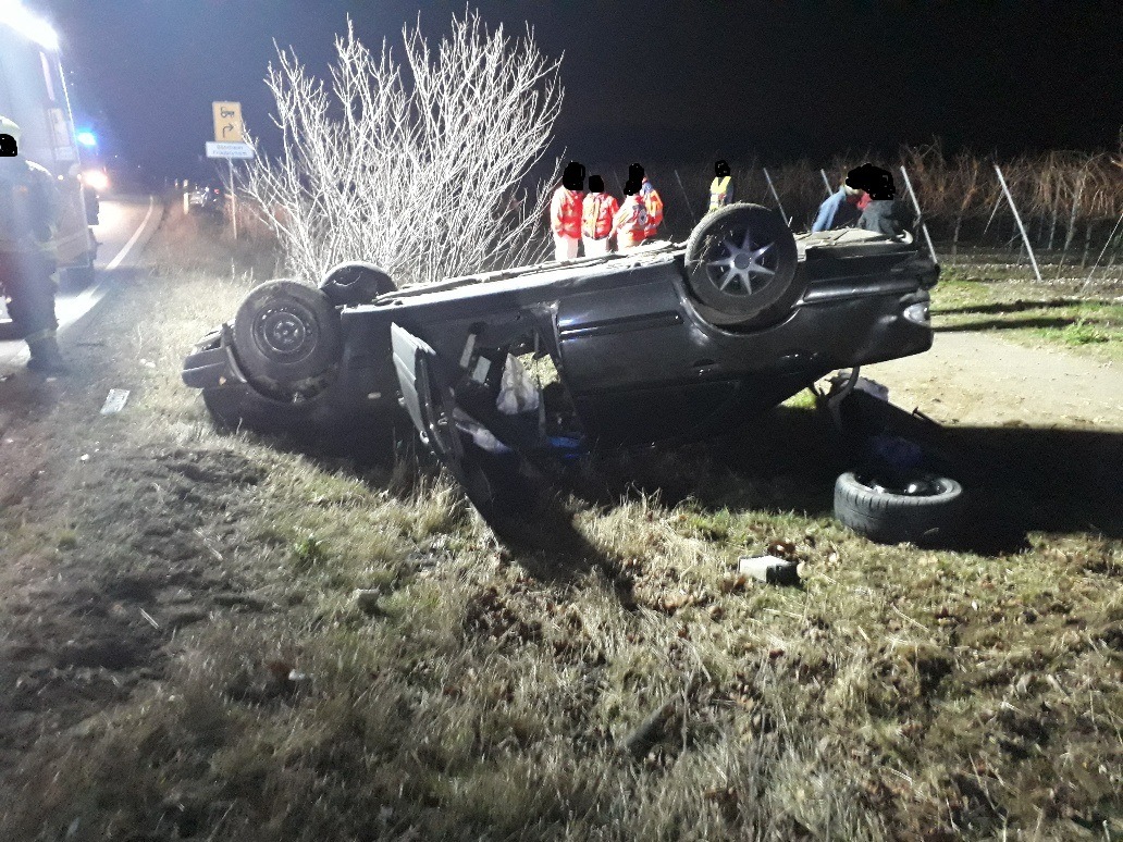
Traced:
<path id="1" fill-rule="evenodd" d="M 80 121 L 109 150 L 194 174 L 211 100 L 240 100 L 268 137 L 273 42 L 326 68 L 347 15 L 376 46 L 421 13 L 436 39 L 462 2 L 40 0 L 60 29 Z M 893 150 L 941 137 L 1002 154 L 1117 149 L 1117 2 L 537 0 L 476 4 L 490 24 L 564 53 L 556 125 L 567 156 L 766 163 Z"/>

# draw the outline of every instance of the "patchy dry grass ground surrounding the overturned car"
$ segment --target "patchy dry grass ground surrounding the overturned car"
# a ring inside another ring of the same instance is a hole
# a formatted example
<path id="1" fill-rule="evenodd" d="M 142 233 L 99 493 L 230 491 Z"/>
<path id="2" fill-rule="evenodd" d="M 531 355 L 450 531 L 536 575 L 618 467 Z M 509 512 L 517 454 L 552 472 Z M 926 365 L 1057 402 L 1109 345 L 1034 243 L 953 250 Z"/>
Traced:
<path id="1" fill-rule="evenodd" d="M 956 431 L 977 532 L 885 547 L 796 402 L 579 466 L 509 546 L 430 464 L 217 432 L 179 367 L 273 260 L 174 212 L 150 258 L 79 384 L 0 384 L 51 441 L 0 511 L 0 839 L 1123 838 L 1117 437 Z M 953 277 L 937 324 L 1117 348 L 1053 298 Z M 737 574 L 769 550 L 798 587 Z"/>

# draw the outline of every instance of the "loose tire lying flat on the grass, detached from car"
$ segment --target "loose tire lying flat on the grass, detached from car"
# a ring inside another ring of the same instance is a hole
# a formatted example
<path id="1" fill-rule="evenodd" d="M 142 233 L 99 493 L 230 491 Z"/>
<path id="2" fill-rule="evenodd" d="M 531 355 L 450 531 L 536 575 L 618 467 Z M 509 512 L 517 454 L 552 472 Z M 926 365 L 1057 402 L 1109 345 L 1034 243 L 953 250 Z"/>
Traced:
<path id="1" fill-rule="evenodd" d="M 886 488 L 868 475 L 847 472 L 834 483 L 834 516 L 878 543 L 933 543 L 955 534 L 964 489 L 955 479 L 920 475 L 907 487 Z"/>

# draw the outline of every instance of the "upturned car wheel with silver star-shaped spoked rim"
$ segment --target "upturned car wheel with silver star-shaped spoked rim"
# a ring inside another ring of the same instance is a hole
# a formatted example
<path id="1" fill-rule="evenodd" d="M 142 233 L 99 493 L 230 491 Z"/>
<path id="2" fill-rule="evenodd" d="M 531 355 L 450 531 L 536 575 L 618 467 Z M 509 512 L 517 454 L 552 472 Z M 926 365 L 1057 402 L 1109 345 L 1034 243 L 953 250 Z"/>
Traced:
<path id="1" fill-rule="evenodd" d="M 719 324 L 783 318 L 805 285 L 796 272 L 795 237 L 778 213 L 759 204 L 706 214 L 686 241 L 685 267 L 700 313 Z"/>

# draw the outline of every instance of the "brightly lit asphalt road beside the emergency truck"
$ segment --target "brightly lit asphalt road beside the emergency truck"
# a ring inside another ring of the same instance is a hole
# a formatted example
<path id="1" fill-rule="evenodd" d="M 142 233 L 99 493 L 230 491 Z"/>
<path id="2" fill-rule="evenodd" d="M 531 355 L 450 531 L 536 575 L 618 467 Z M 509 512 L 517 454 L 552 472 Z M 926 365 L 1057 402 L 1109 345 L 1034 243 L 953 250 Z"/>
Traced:
<path id="1" fill-rule="evenodd" d="M 121 196 L 101 201 L 100 225 L 93 229 L 100 240 L 97 274 L 91 286 L 60 293 L 55 303 L 58 333 L 65 337 L 83 315 L 98 305 L 113 285 L 115 275 L 135 265 L 144 244 L 156 229 L 159 204 L 155 196 Z M 12 374 L 27 363 L 22 341 L 0 341 L 0 376 Z"/>

